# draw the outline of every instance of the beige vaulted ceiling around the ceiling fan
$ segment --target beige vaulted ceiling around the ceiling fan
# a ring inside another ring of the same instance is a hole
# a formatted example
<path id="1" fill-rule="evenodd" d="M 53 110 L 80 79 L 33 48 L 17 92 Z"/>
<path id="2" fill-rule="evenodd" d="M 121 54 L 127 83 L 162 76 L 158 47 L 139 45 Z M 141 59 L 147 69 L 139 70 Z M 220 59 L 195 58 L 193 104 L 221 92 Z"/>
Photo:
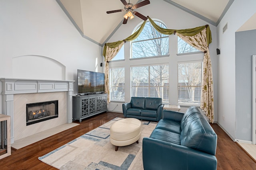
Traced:
<path id="1" fill-rule="evenodd" d="M 114 31 L 122 25 L 123 12 L 106 14 L 106 11 L 120 10 L 120 0 L 56 0 L 80 34 L 98 44 L 104 45 Z M 137 4 L 143 0 L 126 0 Z M 152 0 L 153 1 L 153 0 Z M 217 26 L 234 0 L 164 0 L 212 25 Z M 147 8 L 152 4 L 142 6 Z M 140 8 L 136 11 L 140 12 Z M 111 17 L 110 17 L 111 15 Z M 144 14 L 147 16 L 147 14 Z M 137 17 L 137 16 L 135 16 Z"/>

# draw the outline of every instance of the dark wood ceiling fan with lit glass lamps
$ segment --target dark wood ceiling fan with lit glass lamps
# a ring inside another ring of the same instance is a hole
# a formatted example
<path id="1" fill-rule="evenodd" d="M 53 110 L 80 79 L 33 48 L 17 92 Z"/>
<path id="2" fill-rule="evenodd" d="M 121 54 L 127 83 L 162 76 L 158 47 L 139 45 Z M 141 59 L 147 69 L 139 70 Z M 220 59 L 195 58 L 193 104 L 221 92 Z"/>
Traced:
<path id="1" fill-rule="evenodd" d="M 134 15 L 140 17 L 142 20 L 147 20 L 148 18 L 145 17 L 144 15 L 134 11 L 136 8 L 140 8 L 142 6 L 145 6 L 147 4 L 150 4 L 149 0 L 144 0 L 138 4 L 131 4 L 130 3 L 130 0 L 129 0 L 129 3 L 126 2 L 126 0 L 121 0 L 121 2 L 124 4 L 124 9 L 121 9 L 121 10 L 113 10 L 113 11 L 107 11 L 107 14 L 111 14 L 111 13 L 114 13 L 114 12 L 122 12 L 122 11 L 127 11 L 127 13 L 124 15 L 124 21 L 123 21 L 123 24 L 126 24 L 127 23 L 127 20 L 128 18 L 130 17 L 130 19 L 132 20 L 132 18 L 134 18 Z"/>

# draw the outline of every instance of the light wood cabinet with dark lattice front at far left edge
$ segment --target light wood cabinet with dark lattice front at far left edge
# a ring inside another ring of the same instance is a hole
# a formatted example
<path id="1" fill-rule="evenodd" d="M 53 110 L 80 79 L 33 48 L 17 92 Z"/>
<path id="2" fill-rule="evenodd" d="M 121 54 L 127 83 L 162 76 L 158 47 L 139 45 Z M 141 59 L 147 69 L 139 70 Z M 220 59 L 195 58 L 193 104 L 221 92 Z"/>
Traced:
<path id="1" fill-rule="evenodd" d="M 0 159 L 11 155 L 10 116 L 0 114 Z"/>

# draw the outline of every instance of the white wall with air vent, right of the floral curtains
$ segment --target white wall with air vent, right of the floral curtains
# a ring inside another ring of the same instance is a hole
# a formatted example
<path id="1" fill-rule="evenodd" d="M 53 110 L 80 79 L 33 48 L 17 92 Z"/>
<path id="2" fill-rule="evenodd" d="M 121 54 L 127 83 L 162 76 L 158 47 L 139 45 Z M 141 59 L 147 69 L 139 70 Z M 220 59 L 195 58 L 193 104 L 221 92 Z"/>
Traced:
<path id="1" fill-rule="evenodd" d="M 233 140 L 236 139 L 235 32 L 256 12 L 255 7 L 255 0 L 246 0 L 246 2 L 235 0 L 217 26 L 218 48 L 220 49 L 218 56 L 218 124 Z M 228 29 L 222 33 L 222 28 L 226 23 L 228 23 Z"/>

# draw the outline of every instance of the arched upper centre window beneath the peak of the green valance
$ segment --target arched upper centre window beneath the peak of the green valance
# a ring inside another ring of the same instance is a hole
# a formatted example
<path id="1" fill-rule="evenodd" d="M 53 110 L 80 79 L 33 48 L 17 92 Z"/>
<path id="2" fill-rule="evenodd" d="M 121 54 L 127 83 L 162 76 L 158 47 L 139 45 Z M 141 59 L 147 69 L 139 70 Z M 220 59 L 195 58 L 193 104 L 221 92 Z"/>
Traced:
<path id="1" fill-rule="evenodd" d="M 166 28 L 166 26 L 159 21 L 155 21 L 155 23 L 160 27 Z M 168 54 L 169 36 L 156 31 L 149 21 L 146 22 L 140 35 L 132 41 L 132 58 L 153 57 Z"/>

